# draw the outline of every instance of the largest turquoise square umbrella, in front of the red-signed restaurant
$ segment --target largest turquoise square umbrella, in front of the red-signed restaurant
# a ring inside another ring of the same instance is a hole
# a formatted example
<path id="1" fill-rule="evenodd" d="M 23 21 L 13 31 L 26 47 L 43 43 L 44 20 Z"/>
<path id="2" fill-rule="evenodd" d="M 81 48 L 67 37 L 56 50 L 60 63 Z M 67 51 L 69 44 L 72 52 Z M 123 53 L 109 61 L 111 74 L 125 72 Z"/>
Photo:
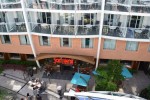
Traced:
<path id="1" fill-rule="evenodd" d="M 75 73 L 71 80 L 71 83 L 80 86 L 87 86 L 89 80 L 90 80 L 90 75 Z"/>

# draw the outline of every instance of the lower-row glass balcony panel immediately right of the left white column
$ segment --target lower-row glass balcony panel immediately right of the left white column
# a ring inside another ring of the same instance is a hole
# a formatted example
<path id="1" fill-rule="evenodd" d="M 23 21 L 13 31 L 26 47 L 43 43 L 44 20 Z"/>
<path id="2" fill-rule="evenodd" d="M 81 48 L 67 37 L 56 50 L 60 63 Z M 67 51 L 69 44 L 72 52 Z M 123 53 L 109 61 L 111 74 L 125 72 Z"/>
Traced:
<path id="1" fill-rule="evenodd" d="M 32 32 L 36 33 L 46 33 L 51 34 L 50 24 L 46 23 L 30 23 L 30 29 Z"/>

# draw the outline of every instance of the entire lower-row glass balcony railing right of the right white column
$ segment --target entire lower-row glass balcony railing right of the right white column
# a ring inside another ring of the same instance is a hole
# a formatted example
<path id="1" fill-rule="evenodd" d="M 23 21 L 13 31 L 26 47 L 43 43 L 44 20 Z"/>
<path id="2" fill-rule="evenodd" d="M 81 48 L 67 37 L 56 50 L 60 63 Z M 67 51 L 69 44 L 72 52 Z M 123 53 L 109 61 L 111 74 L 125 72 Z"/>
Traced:
<path id="1" fill-rule="evenodd" d="M 149 28 L 129 28 L 104 25 L 102 35 L 134 39 L 149 39 L 150 30 Z"/>

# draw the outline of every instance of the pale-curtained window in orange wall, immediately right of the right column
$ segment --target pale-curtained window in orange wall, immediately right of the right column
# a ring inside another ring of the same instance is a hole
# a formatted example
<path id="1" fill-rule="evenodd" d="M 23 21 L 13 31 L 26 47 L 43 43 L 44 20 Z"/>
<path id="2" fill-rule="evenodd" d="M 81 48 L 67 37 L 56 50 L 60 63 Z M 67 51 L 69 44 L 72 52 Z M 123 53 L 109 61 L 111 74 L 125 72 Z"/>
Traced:
<path id="1" fill-rule="evenodd" d="M 116 40 L 105 39 L 103 49 L 114 50 L 116 47 Z"/>

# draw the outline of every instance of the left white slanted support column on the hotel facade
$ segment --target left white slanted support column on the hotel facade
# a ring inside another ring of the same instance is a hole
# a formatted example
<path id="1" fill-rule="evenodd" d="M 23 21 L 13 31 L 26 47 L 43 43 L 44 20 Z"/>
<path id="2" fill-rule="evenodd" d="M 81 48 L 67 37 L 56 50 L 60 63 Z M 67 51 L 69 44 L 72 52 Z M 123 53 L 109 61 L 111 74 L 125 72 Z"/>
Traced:
<path id="1" fill-rule="evenodd" d="M 22 6 L 22 10 L 23 10 L 23 16 L 24 16 L 24 20 L 25 20 L 25 25 L 26 25 L 29 41 L 30 41 L 30 44 L 31 44 L 31 49 L 32 49 L 34 57 L 36 57 L 36 52 L 35 52 L 35 48 L 34 48 L 34 45 L 33 45 L 33 42 L 32 42 L 32 36 L 31 36 L 31 33 L 30 33 L 30 27 L 29 27 L 29 24 L 28 24 L 28 18 L 27 18 L 27 13 L 26 13 L 26 9 L 25 9 L 25 3 L 23 2 L 23 0 L 21 0 L 21 6 Z M 41 67 L 38 60 L 36 60 L 36 63 L 37 63 L 38 67 Z"/>

